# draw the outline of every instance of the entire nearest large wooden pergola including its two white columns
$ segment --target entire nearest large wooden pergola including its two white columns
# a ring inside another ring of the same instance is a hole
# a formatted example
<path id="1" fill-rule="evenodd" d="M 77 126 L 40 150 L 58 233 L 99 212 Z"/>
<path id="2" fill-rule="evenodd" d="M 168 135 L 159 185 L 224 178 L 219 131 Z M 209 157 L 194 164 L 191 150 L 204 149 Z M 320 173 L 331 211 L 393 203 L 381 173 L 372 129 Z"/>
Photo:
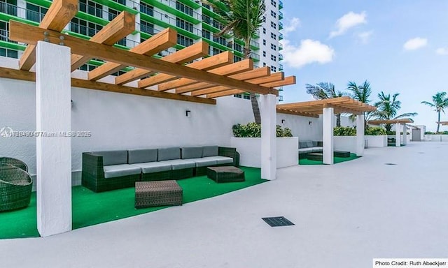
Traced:
<path id="1" fill-rule="evenodd" d="M 275 179 L 276 87 L 295 84 L 294 76 L 271 73 L 268 67 L 254 68 L 251 59 L 233 62 L 231 52 L 207 57 L 206 42 L 161 59 L 153 57 L 176 45 L 174 29 L 165 29 L 129 51 L 114 47 L 134 32 L 135 17 L 126 11 L 90 40 L 62 33 L 77 12 L 77 0 L 55 0 L 38 27 L 9 22 L 10 40 L 28 46 L 18 68 L 0 68 L 0 77 L 36 82 L 36 131 L 71 130 L 71 87 L 211 105 L 218 97 L 251 92 L 260 94 L 261 176 Z M 73 70 L 90 59 L 105 64 L 91 70 L 87 79 L 72 78 Z M 32 66 L 35 73 L 30 71 Z M 132 70 L 113 82 L 99 81 L 125 67 Z M 71 138 L 36 137 L 36 167 L 39 233 L 48 236 L 71 230 Z"/>

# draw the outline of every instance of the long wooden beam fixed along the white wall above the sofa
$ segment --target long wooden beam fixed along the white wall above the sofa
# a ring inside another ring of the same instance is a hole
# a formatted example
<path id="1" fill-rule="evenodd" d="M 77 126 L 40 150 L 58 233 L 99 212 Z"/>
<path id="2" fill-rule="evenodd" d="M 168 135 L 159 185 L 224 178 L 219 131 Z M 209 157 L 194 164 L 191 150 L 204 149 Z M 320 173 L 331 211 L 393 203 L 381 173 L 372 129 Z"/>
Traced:
<path id="1" fill-rule="evenodd" d="M 9 78 L 14 80 L 25 80 L 29 82 L 36 81 L 36 73 L 29 72 L 27 70 L 14 70 L 9 68 L 0 67 L 0 77 Z M 186 96 L 179 94 L 172 94 L 167 92 L 159 92 L 148 89 L 137 89 L 136 87 L 125 87 L 117 84 L 109 84 L 104 82 L 95 82 L 89 80 L 81 80 L 71 78 L 71 87 L 80 87 L 83 89 L 94 89 L 101 91 L 116 92 L 122 94 L 132 94 L 139 96 L 148 96 L 153 98 L 166 98 L 175 101 L 188 101 L 193 103 L 204 103 L 215 105 L 216 100 L 209 100 L 207 98 L 199 98 L 194 96 Z"/>

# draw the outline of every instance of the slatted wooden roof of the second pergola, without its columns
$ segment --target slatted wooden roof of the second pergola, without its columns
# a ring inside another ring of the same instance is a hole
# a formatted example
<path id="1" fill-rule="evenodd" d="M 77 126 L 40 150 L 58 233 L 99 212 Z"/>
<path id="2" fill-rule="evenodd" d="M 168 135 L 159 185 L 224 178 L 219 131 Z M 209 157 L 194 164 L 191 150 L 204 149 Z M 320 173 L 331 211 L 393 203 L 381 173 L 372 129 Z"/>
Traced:
<path id="1" fill-rule="evenodd" d="M 328 107 L 332 107 L 335 114 L 363 114 L 363 112 L 377 110 L 377 107 L 344 96 L 340 98 L 326 98 L 318 101 L 279 104 L 277 105 L 277 112 L 302 115 L 304 117 L 319 117 L 319 114 L 323 114 L 323 109 Z"/>

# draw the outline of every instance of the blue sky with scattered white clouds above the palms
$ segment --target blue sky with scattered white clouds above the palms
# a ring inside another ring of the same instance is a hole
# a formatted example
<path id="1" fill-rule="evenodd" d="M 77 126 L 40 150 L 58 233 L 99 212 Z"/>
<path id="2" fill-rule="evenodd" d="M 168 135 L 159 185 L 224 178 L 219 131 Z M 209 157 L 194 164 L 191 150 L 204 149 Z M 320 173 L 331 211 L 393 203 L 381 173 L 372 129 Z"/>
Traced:
<path id="1" fill-rule="evenodd" d="M 283 0 L 284 103 L 307 101 L 305 84 L 368 80 L 377 94 L 400 93 L 399 113 L 435 131 L 437 114 L 421 101 L 448 91 L 447 0 Z M 442 114 L 442 121 L 448 121 Z M 448 131 L 441 126 L 441 131 Z"/>

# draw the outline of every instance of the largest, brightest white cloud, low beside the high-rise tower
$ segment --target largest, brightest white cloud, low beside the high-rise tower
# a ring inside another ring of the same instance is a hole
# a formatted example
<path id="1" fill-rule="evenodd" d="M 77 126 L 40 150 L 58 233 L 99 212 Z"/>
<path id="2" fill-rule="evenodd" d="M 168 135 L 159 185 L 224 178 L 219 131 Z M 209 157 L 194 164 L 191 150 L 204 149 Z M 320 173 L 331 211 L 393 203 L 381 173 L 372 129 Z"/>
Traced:
<path id="1" fill-rule="evenodd" d="M 283 40 L 283 62 L 293 68 L 301 68 L 307 64 L 327 64 L 335 57 L 335 50 L 317 40 L 306 39 L 299 46 L 291 45 Z"/>

